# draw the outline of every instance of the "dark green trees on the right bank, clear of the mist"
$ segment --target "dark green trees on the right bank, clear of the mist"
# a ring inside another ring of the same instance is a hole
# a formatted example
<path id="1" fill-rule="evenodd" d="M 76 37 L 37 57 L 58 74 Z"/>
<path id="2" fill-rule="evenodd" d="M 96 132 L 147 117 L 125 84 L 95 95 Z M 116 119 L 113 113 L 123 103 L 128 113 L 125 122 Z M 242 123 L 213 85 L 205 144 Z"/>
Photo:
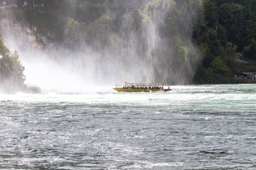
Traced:
<path id="1" fill-rule="evenodd" d="M 256 1 L 204 0 L 193 38 L 204 52 L 194 78 L 199 83 L 232 83 L 241 71 L 256 71 Z"/>

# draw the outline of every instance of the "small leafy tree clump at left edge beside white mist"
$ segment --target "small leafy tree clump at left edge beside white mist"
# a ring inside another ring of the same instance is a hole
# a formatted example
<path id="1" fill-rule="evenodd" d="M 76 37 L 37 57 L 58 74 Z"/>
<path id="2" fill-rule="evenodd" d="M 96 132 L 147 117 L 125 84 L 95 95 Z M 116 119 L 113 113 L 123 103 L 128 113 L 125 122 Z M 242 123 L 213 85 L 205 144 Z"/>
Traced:
<path id="1" fill-rule="evenodd" d="M 13 93 L 22 90 L 25 80 L 23 71 L 18 53 L 10 52 L 0 40 L 0 92 Z"/>

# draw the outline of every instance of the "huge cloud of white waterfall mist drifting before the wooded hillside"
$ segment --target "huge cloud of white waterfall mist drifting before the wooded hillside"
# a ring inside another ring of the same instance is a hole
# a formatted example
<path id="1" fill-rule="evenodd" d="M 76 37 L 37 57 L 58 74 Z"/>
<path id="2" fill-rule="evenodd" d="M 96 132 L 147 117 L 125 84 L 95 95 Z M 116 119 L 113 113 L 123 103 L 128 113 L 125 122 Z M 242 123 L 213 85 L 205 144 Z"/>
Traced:
<path id="1" fill-rule="evenodd" d="M 192 32 L 202 8 L 201 1 L 116 1 L 90 23 L 67 19 L 63 41 L 42 36 L 44 45 L 35 41 L 38 28 L 16 22 L 9 10 L 1 32 L 19 53 L 26 83 L 43 91 L 125 81 L 188 84 L 200 62 Z M 70 17 L 62 12 L 59 17 Z"/>

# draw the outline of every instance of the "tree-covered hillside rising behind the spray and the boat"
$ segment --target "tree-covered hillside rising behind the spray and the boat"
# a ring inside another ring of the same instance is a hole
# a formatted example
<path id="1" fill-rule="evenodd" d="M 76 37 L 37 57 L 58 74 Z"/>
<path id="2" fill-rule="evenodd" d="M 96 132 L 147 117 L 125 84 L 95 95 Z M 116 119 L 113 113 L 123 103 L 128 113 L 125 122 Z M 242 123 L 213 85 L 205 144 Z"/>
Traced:
<path id="1" fill-rule="evenodd" d="M 256 71 L 255 2 L 55 1 L 2 8 L 1 24 L 36 48 L 90 51 L 100 77 L 116 64 L 123 73 L 113 80 L 232 83 Z"/>

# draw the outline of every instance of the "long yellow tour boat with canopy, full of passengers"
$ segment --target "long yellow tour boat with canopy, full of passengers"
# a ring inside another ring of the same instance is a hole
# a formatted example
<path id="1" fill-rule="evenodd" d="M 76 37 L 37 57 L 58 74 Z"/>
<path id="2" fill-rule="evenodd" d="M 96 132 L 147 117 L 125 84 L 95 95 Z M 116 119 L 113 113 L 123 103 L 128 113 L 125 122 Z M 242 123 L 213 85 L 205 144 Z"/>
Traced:
<path id="1" fill-rule="evenodd" d="M 127 83 L 125 86 L 119 86 L 115 84 L 115 91 L 118 92 L 150 92 L 150 91 L 170 91 L 170 86 L 168 88 L 163 88 L 164 83 Z"/>

